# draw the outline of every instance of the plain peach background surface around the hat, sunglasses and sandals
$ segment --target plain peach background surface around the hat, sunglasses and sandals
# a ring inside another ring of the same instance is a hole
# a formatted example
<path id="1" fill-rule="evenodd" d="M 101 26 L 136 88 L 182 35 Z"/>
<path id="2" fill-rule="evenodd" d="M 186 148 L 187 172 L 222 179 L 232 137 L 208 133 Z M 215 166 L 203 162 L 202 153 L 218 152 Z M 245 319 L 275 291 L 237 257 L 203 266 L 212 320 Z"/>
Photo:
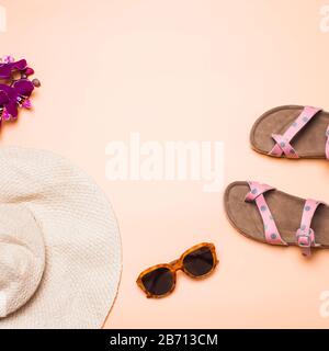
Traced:
<path id="1" fill-rule="evenodd" d="M 43 87 L 33 112 L 1 132 L 2 145 L 49 149 L 82 167 L 115 208 L 124 248 L 107 328 L 329 327 L 329 251 L 302 258 L 243 238 L 220 193 L 201 182 L 110 182 L 106 145 L 128 140 L 223 140 L 225 181 L 254 179 L 329 202 L 325 161 L 273 160 L 249 148 L 265 110 L 329 110 L 329 33 L 320 0 L 1 0 L 1 55 L 26 57 Z M 329 3 L 329 1 L 328 1 Z M 311 180 L 311 182 L 310 182 Z M 150 301 L 138 273 L 201 241 L 220 264 L 203 282 L 180 274 L 177 291 Z"/>

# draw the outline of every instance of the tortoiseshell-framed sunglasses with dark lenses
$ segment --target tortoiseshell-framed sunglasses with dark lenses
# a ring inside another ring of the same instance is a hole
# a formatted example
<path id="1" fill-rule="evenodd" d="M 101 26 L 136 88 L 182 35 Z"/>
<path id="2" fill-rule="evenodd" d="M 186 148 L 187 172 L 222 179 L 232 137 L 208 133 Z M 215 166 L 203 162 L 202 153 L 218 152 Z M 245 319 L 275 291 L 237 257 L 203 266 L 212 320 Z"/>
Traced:
<path id="1" fill-rule="evenodd" d="M 218 263 L 214 244 L 202 242 L 185 251 L 180 259 L 154 265 L 141 272 L 137 285 L 147 297 L 164 297 L 175 287 L 175 275 L 183 271 L 193 279 L 209 275 Z"/>

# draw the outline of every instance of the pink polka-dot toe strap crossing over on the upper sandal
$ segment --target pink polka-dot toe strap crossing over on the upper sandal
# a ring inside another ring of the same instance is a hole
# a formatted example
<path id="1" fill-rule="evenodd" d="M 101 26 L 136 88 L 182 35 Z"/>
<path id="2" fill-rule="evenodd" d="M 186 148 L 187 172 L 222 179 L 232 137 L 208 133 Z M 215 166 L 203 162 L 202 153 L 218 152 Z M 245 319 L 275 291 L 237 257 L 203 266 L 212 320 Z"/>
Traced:
<path id="1" fill-rule="evenodd" d="M 286 129 L 286 132 L 283 135 L 272 134 L 272 138 L 275 141 L 275 146 L 269 152 L 269 155 L 277 157 L 285 155 L 285 157 L 287 158 L 298 158 L 298 155 L 296 150 L 292 147 L 291 141 L 320 111 L 321 109 L 305 106 L 299 116 L 293 122 L 293 124 Z"/>

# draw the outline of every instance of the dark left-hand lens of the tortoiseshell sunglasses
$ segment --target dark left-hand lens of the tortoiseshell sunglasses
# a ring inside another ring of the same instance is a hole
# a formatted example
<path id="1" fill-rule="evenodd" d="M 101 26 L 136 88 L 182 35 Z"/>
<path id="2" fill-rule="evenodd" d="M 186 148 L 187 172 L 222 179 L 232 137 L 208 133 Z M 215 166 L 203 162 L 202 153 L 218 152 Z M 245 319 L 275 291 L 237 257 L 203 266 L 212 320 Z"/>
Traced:
<path id="1" fill-rule="evenodd" d="M 172 288 L 174 278 L 168 268 L 158 268 L 143 276 L 145 288 L 152 295 L 164 295 Z"/>

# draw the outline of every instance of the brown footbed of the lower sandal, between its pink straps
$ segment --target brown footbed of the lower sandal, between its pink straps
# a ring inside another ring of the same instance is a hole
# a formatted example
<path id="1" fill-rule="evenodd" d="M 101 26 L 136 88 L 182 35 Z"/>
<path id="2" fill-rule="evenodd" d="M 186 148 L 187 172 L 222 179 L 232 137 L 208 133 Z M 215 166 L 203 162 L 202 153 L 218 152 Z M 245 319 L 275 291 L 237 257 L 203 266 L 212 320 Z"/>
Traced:
<path id="1" fill-rule="evenodd" d="M 264 227 L 254 202 L 245 202 L 250 188 L 247 182 L 234 182 L 225 191 L 224 205 L 232 226 L 246 237 L 265 242 Z M 305 200 L 279 190 L 264 194 L 282 239 L 296 244 L 296 231 L 300 227 Z M 329 248 L 329 206 L 321 204 L 313 218 L 316 244 Z"/>

